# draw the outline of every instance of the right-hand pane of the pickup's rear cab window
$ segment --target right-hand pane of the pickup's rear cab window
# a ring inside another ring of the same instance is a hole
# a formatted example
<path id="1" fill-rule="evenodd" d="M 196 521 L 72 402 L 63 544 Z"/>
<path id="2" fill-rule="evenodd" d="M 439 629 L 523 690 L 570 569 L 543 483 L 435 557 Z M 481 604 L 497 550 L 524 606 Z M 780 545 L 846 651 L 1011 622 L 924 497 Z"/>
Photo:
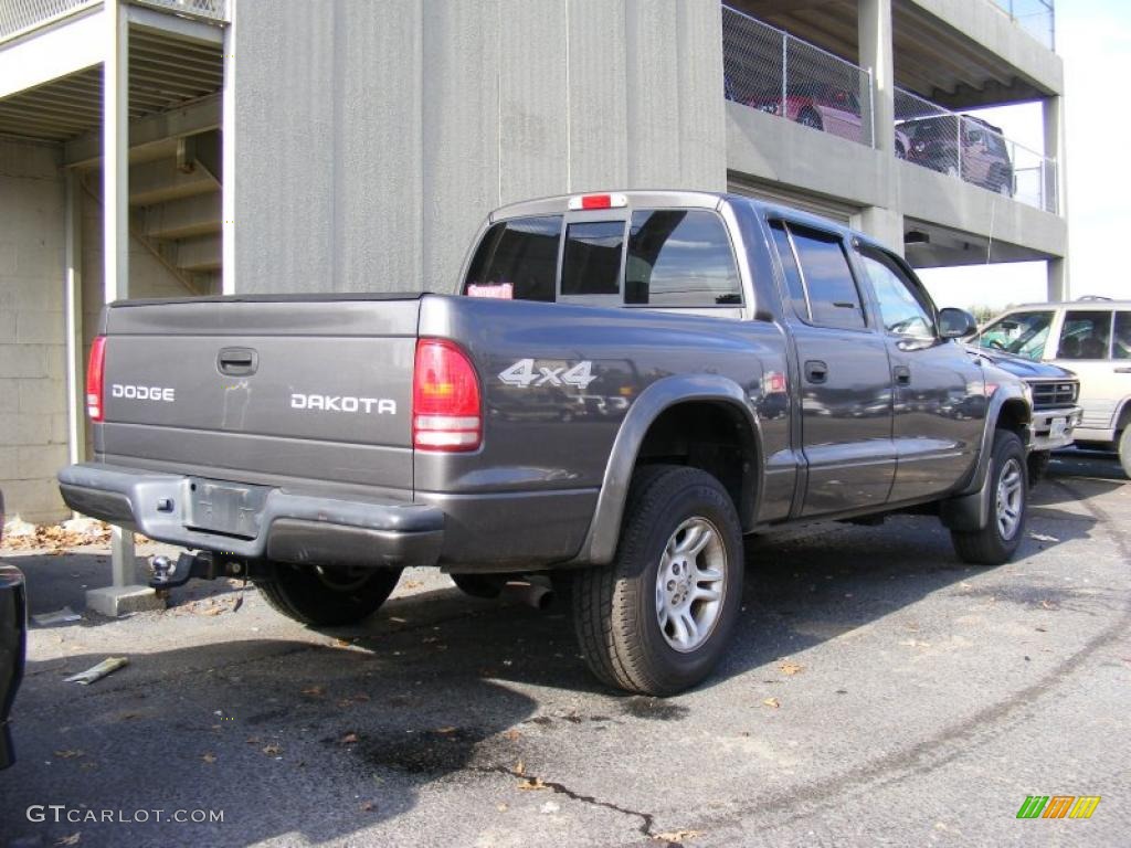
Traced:
<path id="1" fill-rule="evenodd" d="M 706 209 L 632 213 L 624 302 L 650 306 L 741 304 L 739 269 L 718 216 Z"/>

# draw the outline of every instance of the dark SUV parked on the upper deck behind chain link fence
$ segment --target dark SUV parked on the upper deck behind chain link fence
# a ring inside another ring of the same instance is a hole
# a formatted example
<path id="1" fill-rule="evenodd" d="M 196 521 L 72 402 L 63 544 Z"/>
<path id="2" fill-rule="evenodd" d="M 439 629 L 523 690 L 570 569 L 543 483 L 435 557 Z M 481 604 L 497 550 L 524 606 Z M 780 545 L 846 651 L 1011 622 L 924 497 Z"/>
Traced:
<path id="1" fill-rule="evenodd" d="M 1013 163 L 1001 128 L 974 115 L 960 118 L 961 150 L 959 121 L 955 115 L 932 115 L 899 123 L 897 130 L 909 139 L 907 161 L 944 174 L 961 174 L 966 182 L 1012 197 Z"/>

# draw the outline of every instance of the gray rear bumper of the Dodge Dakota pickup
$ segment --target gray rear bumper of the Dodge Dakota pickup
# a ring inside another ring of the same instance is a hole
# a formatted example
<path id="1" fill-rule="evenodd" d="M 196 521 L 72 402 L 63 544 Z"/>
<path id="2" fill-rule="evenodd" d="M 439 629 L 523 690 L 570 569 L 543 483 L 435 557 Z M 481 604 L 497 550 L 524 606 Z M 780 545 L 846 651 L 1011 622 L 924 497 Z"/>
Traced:
<path id="1" fill-rule="evenodd" d="M 422 503 L 337 500 L 268 488 L 257 503 L 253 537 L 187 525 L 193 478 L 85 462 L 59 473 L 71 509 L 152 539 L 236 557 L 319 565 L 434 565 L 443 512 Z"/>

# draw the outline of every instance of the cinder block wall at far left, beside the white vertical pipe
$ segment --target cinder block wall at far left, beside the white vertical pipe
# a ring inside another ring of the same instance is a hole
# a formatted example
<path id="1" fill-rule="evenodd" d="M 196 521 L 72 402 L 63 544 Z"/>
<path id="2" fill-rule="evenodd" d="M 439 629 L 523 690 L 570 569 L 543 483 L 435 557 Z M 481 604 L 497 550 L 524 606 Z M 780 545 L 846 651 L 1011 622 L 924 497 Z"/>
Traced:
<path id="1" fill-rule="evenodd" d="M 64 512 L 63 199 L 59 148 L 0 139 L 0 488 L 28 521 Z"/>

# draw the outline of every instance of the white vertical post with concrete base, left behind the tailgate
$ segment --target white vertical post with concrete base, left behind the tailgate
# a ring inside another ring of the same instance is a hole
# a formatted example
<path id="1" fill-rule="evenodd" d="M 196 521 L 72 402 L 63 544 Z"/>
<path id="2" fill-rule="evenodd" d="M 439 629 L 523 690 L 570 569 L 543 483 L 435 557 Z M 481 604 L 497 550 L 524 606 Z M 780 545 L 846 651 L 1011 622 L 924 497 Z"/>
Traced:
<path id="1" fill-rule="evenodd" d="M 105 60 L 102 73 L 102 232 L 105 302 L 128 297 L 129 252 L 129 18 L 119 0 L 106 0 Z M 111 528 L 112 586 L 90 589 L 86 605 L 118 616 L 163 605 L 138 583 L 133 533 Z"/>

